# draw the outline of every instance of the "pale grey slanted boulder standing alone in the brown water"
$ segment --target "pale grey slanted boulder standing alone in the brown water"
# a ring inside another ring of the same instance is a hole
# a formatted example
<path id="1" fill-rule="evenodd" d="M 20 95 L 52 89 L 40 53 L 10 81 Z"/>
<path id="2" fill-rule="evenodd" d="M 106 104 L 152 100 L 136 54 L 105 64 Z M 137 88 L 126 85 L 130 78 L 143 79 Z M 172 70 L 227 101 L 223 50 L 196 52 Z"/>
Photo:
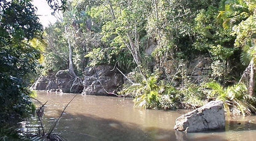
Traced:
<path id="1" fill-rule="evenodd" d="M 225 113 L 222 101 L 210 101 L 206 105 L 177 118 L 174 129 L 199 132 L 225 128 Z"/>

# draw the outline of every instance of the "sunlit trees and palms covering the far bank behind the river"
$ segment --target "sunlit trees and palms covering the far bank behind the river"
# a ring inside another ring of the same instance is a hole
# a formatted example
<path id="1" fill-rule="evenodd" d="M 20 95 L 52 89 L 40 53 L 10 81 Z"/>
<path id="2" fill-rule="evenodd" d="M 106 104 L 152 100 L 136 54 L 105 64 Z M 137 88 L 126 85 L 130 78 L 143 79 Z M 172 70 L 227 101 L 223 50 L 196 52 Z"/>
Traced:
<path id="1" fill-rule="evenodd" d="M 220 99 L 242 113 L 255 111 L 256 2 L 75 0 L 66 6 L 44 34 L 45 74 L 72 63 L 82 77 L 87 66 L 113 64 L 131 81 L 119 94 L 144 108 L 194 108 Z M 200 56 L 210 58 L 210 70 L 195 80 L 187 64 Z"/>

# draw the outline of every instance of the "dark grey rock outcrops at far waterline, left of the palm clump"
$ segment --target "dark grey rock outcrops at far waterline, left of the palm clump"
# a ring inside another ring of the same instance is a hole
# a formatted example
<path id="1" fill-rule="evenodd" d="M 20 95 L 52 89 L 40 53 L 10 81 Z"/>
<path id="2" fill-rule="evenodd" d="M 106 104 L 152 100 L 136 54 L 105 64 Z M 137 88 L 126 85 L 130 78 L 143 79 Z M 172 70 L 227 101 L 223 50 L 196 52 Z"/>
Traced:
<path id="1" fill-rule="evenodd" d="M 83 78 L 73 78 L 68 70 L 60 70 L 56 74 L 41 76 L 31 86 L 31 89 L 89 95 L 111 95 L 116 93 L 123 83 L 123 76 L 118 70 L 113 69 L 113 66 L 103 64 L 96 67 L 87 67 Z"/>

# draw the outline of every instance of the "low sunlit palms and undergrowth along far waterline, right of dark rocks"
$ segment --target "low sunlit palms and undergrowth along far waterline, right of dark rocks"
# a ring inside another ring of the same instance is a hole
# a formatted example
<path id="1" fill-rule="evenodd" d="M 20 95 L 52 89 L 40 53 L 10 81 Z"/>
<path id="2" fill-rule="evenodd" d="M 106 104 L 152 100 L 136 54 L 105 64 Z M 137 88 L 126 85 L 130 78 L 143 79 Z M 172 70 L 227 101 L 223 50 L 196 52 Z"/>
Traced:
<path id="1" fill-rule="evenodd" d="M 256 113 L 256 98 L 248 94 L 242 83 L 225 88 L 214 81 L 201 85 L 186 81 L 183 88 L 175 88 L 158 76 L 151 74 L 143 80 L 138 74 L 129 75 L 135 83 L 124 85 L 119 94 L 134 97 L 135 106 L 143 109 L 196 109 L 209 101 L 220 100 L 228 116 L 233 109 L 242 115 Z"/>

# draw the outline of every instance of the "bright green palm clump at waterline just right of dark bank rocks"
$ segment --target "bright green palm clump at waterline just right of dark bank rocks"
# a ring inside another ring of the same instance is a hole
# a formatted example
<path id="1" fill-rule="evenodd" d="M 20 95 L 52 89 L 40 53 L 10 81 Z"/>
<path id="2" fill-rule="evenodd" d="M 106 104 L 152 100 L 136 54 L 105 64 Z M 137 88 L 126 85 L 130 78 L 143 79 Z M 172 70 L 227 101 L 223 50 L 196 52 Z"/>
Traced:
<path id="1" fill-rule="evenodd" d="M 164 82 L 159 82 L 158 74 L 151 74 L 146 80 L 141 82 L 141 75 L 132 75 L 134 83 L 124 86 L 119 94 L 127 94 L 135 97 L 134 102 L 143 109 L 177 109 L 180 101 L 180 94 L 173 86 L 168 86 Z"/>

